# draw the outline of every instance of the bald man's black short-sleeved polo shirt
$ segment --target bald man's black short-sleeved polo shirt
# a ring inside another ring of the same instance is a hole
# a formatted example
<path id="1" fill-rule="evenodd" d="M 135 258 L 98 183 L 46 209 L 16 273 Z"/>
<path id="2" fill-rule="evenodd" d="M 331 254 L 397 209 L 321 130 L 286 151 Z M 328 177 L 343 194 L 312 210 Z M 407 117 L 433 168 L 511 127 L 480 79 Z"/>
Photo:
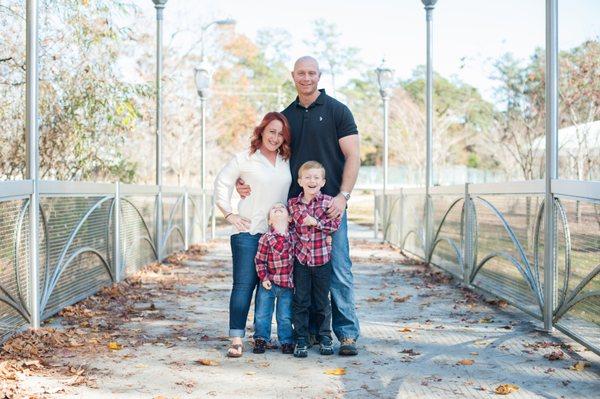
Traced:
<path id="1" fill-rule="evenodd" d="M 300 194 L 298 169 L 306 161 L 318 161 L 325 167 L 327 180 L 321 191 L 332 197 L 338 195 L 346 161 L 338 140 L 358 134 L 348 107 L 325 94 L 324 89 L 319 91 L 321 94 L 308 108 L 300 105 L 296 97 L 282 112 L 292 130 L 292 185 L 288 198 Z"/>

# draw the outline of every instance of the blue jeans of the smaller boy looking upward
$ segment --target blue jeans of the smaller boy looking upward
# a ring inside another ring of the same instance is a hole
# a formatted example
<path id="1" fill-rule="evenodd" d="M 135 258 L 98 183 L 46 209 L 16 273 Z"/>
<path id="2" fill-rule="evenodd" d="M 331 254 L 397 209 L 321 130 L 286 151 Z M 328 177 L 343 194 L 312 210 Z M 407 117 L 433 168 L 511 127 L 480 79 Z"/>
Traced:
<path id="1" fill-rule="evenodd" d="M 277 300 L 275 318 L 277 320 L 277 338 L 280 344 L 293 343 L 292 330 L 292 298 L 291 288 L 280 287 L 271 284 L 271 289 L 259 285 L 256 294 L 256 306 L 254 310 L 254 339 L 269 341 L 271 339 L 271 320 L 273 319 L 273 308 Z"/>

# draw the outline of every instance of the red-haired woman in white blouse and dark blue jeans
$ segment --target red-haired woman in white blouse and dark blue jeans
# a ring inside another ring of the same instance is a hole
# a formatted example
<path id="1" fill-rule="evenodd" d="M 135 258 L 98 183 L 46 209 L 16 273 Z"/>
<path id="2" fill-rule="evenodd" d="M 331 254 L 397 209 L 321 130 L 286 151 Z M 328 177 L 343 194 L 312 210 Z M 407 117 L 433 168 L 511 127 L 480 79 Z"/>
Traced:
<path id="1" fill-rule="evenodd" d="M 258 284 L 254 256 L 259 238 L 268 229 L 269 208 L 287 200 L 292 182 L 290 144 L 287 119 L 279 112 L 269 112 L 254 129 L 250 150 L 236 154 L 215 180 L 217 206 L 237 230 L 231 236 L 233 287 L 229 299 L 229 357 L 242 356 L 246 319 Z M 231 207 L 231 194 L 238 178 L 251 185 L 252 195 L 240 200 L 236 214 Z"/>

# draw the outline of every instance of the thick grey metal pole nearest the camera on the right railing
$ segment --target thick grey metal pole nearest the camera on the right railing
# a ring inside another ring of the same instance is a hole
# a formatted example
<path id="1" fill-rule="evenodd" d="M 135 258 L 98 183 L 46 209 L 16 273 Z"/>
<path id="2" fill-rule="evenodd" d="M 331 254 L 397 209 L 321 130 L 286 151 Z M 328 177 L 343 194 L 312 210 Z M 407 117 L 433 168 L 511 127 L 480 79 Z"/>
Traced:
<path id="1" fill-rule="evenodd" d="M 544 329 L 552 331 L 556 299 L 556 232 L 552 180 L 558 178 L 558 0 L 546 0 L 546 178 Z"/>

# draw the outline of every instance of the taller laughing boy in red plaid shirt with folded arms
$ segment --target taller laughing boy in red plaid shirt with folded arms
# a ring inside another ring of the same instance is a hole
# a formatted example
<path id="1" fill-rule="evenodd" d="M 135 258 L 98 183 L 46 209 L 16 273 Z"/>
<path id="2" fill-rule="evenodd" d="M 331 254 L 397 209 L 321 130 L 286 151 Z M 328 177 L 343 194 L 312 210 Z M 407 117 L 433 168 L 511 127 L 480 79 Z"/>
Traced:
<path id="1" fill-rule="evenodd" d="M 297 235 L 294 262 L 293 320 L 296 346 L 295 357 L 308 356 L 308 313 L 314 306 L 319 352 L 333 354 L 331 339 L 331 241 L 327 237 L 340 227 L 340 218 L 328 219 L 327 208 L 333 197 L 321 193 L 325 185 L 325 168 L 316 161 L 300 166 L 298 184 L 302 192 L 290 198 L 288 207 Z"/>

